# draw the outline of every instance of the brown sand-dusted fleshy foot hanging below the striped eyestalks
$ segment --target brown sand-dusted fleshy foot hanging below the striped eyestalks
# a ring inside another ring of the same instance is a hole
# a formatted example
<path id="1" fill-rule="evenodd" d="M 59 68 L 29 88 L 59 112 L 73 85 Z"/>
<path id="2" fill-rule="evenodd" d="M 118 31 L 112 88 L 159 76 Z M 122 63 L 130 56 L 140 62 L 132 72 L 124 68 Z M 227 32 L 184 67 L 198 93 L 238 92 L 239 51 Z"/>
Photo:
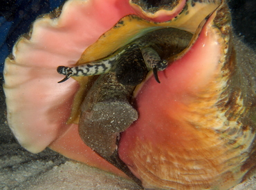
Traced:
<path id="1" fill-rule="evenodd" d="M 82 103 L 79 134 L 86 145 L 140 184 L 117 151 L 120 132 L 138 118 L 129 104 L 133 91 L 134 86 L 122 85 L 113 72 L 100 75 Z"/>

